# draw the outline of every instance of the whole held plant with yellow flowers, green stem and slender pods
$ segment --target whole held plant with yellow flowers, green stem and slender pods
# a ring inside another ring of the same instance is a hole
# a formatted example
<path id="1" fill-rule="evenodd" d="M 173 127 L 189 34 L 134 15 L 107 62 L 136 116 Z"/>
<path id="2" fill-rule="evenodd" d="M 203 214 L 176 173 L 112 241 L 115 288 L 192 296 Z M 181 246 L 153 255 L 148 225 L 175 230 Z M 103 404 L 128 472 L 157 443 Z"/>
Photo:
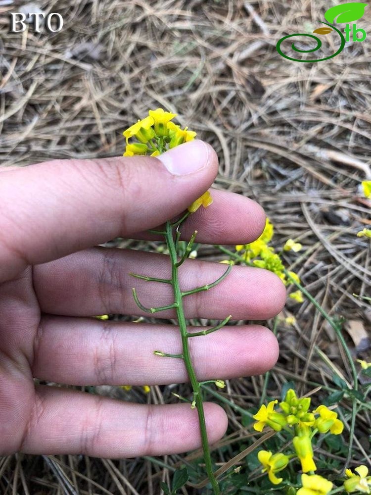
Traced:
<path id="1" fill-rule="evenodd" d="M 131 127 L 126 129 L 123 133 L 126 138 L 126 150 L 124 156 L 133 156 L 133 155 L 150 155 L 150 156 L 158 156 L 161 153 L 165 152 L 167 149 L 174 148 L 176 146 L 181 145 L 182 143 L 191 141 L 195 138 L 196 133 L 194 131 L 189 131 L 187 127 L 185 129 L 181 129 L 179 125 L 176 125 L 172 122 L 173 118 L 176 117 L 176 114 L 167 112 L 162 108 L 157 108 L 156 110 L 149 110 L 148 115 L 139 120 Z M 211 194 L 206 191 L 200 198 L 196 199 L 192 204 L 190 204 L 187 210 L 181 215 L 178 219 L 169 219 L 165 226 L 160 230 L 152 230 L 150 232 L 163 236 L 166 242 L 167 250 L 169 253 L 169 260 L 171 263 L 172 275 L 169 279 L 161 279 L 149 277 L 145 274 L 135 274 L 131 273 L 133 277 L 144 280 L 146 282 L 157 282 L 164 284 L 171 284 L 173 287 L 174 293 L 174 302 L 168 304 L 167 306 L 161 307 L 145 307 L 141 304 L 139 300 L 139 296 L 135 288 L 133 288 L 133 297 L 138 307 L 147 313 L 155 314 L 157 312 L 161 312 L 166 309 L 175 309 L 177 314 L 177 319 L 179 323 L 179 329 L 181 333 L 182 339 L 182 352 L 180 354 L 169 354 L 164 350 L 156 349 L 154 350 L 154 354 L 159 356 L 160 358 L 175 358 L 175 359 L 183 359 L 185 363 L 185 368 L 188 373 L 189 381 L 192 386 L 192 400 L 190 401 L 190 407 L 196 408 L 198 412 L 198 419 L 200 425 L 200 433 L 201 433 L 201 442 L 204 453 L 205 467 L 207 471 L 207 475 L 209 477 L 210 483 L 212 485 L 214 494 L 220 494 L 219 484 L 213 474 L 212 461 L 210 456 L 210 450 L 208 445 L 207 433 L 206 433 L 206 424 L 205 424 L 205 415 L 203 409 L 203 400 L 202 400 L 202 391 L 201 385 L 204 383 L 213 382 L 218 388 L 224 388 L 225 383 L 223 380 L 208 380 L 207 382 L 200 382 L 196 374 L 194 372 L 193 363 L 191 361 L 190 353 L 189 353 L 189 339 L 195 338 L 199 336 L 205 336 L 212 332 L 215 332 L 219 328 L 223 327 L 227 324 L 231 316 L 227 316 L 225 320 L 219 325 L 207 329 L 201 330 L 199 332 L 188 332 L 184 307 L 183 307 L 183 299 L 191 294 L 196 294 L 198 292 L 206 291 L 215 287 L 217 284 L 222 282 L 225 277 L 231 271 L 232 265 L 229 265 L 224 274 L 219 277 L 215 282 L 202 286 L 195 287 L 189 291 L 184 291 L 180 287 L 179 283 L 179 269 L 185 262 L 185 260 L 189 257 L 192 252 L 192 247 L 195 242 L 196 234 L 195 231 L 189 242 L 187 243 L 185 249 L 181 248 L 180 245 L 180 237 L 181 237 L 181 228 L 185 220 L 189 215 L 194 213 L 198 208 L 209 206 L 213 201 Z M 176 395 L 176 394 L 175 394 Z M 183 398 L 179 395 L 176 395 L 179 398 Z M 163 487 L 164 488 L 164 487 Z M 165 491 L 171 493 L 170 490 L 165 487 Z"/>

